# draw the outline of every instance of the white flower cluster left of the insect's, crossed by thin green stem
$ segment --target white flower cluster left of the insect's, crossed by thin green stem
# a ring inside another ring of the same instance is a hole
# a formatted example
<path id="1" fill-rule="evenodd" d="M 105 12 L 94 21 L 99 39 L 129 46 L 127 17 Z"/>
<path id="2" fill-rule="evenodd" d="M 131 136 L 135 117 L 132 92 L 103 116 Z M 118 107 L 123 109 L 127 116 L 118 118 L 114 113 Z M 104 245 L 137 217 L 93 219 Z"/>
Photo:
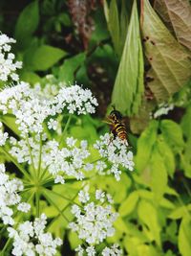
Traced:
<path id="1" fill-rule="evenodd" d="M 33 159 L 34 168 L 38 167 L 40 147 L 37 138 L 30 137 L 28 141 L 17 141 L 11 137 L 10 142 L 10 153 L 19 163 L 32 164 Z M 84 178 L 82 169 L 90 152 L 87 150 L 87 141 L 81 141 L 78 147 L 76 144 L 76 139 L 68 137 L 66 147 L 62 149 L 59 149 L 59 144 L 55 140 L 50 140 L 42 146 L 41 168 L 47 168 L 49 173 L 55 176 L 56 183 L 64 183 L 63 175 L 74 176 L 78 180 Z"/>

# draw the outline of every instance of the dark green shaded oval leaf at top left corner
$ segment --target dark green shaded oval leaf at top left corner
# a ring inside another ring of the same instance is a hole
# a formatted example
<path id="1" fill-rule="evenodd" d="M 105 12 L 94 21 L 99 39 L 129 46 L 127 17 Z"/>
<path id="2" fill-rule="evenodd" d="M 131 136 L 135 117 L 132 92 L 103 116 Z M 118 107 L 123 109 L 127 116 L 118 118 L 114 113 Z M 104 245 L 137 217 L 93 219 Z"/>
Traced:
<path id="1" fill-rule="evenodd" d="M 33 1 L 19 15 L 15 26 L 15 38 L 19 41 L 32 35 L 38 27 L 38 1 Z"/>

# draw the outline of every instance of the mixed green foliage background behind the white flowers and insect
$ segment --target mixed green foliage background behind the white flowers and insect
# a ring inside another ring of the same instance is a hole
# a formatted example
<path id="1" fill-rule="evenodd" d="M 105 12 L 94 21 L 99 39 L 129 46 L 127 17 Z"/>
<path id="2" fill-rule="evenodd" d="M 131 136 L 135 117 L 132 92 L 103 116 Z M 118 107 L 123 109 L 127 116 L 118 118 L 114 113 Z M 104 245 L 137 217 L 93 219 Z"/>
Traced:
<path id="1" fill-rule="evenodd" d="M 92 181 L 114 196 L 120 214 L 109 242 L 118 242 L 124 255 L 189 256 L 189 2 L 86 0 L 77 6 L 74 0 L 2 0 L 0 8 L 0 30 L 17 40 L 21 80 L 43 84 L 53 74 L 58 81 L 83 83 L 98 99 L 96 116 L 71 126 L 71 135 L 95 141 L 108 129 L 101 120 L 111 102 L 127 116 L 135 172 L 125 172 L 119 182 L 112 177 Z M 160 103 L 174 109 L 153 120 L 151 113 Z M 69 193 L 67 186 L 57 189 Z M 43 201 L 42 207 L 50 218 L 57 215 Z M 54 223 L 50 231 L 62 237 L 66 232 L 63 255 L 73 255 L 76 237 L 66 231 L 61 217 Z"/>

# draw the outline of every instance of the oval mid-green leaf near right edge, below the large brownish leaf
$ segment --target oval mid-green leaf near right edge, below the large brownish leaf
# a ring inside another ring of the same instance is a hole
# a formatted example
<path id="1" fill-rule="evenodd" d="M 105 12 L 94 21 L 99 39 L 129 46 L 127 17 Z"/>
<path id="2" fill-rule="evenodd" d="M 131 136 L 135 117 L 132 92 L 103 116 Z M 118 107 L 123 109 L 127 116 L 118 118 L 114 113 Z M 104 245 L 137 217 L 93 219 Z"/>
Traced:
<path id="1" fill-rule="evenodd" d="M 184 142 L 180 126 L 172 120 L 162 120 L 160 129 L 166 143 L 170 145 L 174 151 L 181 151 Z"/>

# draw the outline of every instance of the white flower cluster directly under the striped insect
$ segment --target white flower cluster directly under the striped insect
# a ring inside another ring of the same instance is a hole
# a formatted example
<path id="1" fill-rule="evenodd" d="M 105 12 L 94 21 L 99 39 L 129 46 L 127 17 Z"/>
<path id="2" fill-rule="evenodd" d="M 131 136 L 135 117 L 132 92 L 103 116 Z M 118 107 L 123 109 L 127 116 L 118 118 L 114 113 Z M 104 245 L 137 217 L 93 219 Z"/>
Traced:
<path id="1" fill-rule="evenodd" d="M 100 136 L 100 140 L 96 141 L 95 149 L 99 151 L 101 157 L 108 160 L 111 169 L 107 174 L 114 174 L 116 179 L 120 179 L 121 168 L 129 171 L 134 170 L 133 152 L 129 150 L 127 141 L 120 138 L 113 139 L 109 133 Z M 106 164 L 103 161 L 98 162 L 97 171 L 103 174 Z"/>

